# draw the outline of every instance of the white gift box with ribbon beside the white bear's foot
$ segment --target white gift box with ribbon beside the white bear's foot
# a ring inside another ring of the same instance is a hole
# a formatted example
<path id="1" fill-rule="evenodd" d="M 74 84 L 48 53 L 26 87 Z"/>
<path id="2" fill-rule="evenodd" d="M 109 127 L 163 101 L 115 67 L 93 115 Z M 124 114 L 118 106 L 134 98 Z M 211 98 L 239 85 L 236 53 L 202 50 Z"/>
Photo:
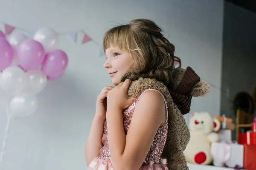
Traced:
<path id="1" fill-rule="evenodd" d="M 213 142 L 211 154 L 215 166 L 242 168 L 244 165 L 244 145 L 231 142 Z"/>

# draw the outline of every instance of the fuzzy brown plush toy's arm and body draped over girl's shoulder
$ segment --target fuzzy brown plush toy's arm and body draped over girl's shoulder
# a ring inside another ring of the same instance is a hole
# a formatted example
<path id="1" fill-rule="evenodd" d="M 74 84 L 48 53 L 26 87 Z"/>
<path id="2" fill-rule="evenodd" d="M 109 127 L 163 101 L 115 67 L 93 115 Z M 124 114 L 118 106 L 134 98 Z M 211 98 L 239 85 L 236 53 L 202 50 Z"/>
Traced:
<path id="1" fill-rule="evenodd" d="M 183 115 L 172 100 L 168 88 L 155 79 L 139 78 L 133 81 L 128 89 L 128 96 L 138 97 L 146 89 L 156 89 L 166 98 L 168 106 L 168 135 L 163 157 L 166 158 L 169 170 L 188 170 L 183 151 L 189 142 L 190 133 Z"/>

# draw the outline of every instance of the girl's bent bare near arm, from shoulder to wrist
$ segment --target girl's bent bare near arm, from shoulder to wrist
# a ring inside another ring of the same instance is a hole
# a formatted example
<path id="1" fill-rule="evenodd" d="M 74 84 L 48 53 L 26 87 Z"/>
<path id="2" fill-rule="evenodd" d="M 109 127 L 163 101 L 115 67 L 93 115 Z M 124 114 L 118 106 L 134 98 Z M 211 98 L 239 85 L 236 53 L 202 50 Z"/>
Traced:
<path id="1" fill-rule="evenodd" d="M 157 91 L 146 91 L 140 96 L 126 136 L 121 110 L 108 108 L 107 120 L 114 168 L 138 170 L 148 154 L 158 128 L 166 121 L 163 96 Z"/>

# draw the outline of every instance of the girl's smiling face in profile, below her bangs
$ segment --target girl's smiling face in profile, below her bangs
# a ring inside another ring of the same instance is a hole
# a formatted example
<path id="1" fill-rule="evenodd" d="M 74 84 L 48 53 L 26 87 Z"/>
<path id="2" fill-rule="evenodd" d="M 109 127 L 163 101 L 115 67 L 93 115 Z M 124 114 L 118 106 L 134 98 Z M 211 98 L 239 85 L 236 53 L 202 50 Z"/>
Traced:
<path id="1" fill-rule="evenodd" d="M 113 84 L 119 85 L 122 76 L 134 63 L 134 59 L 127 52 L 112 46 L 106 49 L 106 56 L 107 60 L 104 63 L 104 67 L 107 68 Z"/>

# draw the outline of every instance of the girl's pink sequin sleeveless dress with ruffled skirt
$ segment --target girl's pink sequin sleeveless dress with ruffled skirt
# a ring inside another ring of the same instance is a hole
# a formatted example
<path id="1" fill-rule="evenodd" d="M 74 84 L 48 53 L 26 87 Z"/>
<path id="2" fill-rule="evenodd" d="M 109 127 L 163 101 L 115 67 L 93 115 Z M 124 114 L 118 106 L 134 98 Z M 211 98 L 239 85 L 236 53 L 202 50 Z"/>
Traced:
<path id="1" fill-rule="evenodd" d="M 148 90 L 154 90 L 154 89 L 148 89 Z M 157 90 L 154 90 L 154 91 L 157 91 Z M 134 109 L 139 99 L 140 99 L 140 96 L 131 104 L 131 106 L 129 106 L 129 108 L 123 111 L 123 124 L 124 124 L 125 134 L 129 130 L 129 125 L 131 123 L 132 115 L 134 113 Z M 165 100 L 164 97 L 163 99 Z M 166 100 L 165 100 L 165 104 L 166 104 Z M 166 122 L 163 126 L 159 127 L 159 129 L 157 130 L 157 133 L 151 144 L 148 155 L 146 156 L 145 161 L 140 167 L 140 170 L 168 170 L 168 167 L 165 164 L 163 164 L 163 159 L 161 159 L 163 147 L 166 142 L 167 130 L 168 130 L 167 115 L 168 114 L 167 114 L 167 105 L 166 105 Z M 108 147 L 108 128 L 107 128 L 106 121 L 104 123 L 102 144 L 103 144 L 103 147 L 99 150 L 99 156 L 94 158 L 93 161 L 91 161 L 87 170 L 114 170 L 111 157 L 110 157 L 109 147 Z"/>

